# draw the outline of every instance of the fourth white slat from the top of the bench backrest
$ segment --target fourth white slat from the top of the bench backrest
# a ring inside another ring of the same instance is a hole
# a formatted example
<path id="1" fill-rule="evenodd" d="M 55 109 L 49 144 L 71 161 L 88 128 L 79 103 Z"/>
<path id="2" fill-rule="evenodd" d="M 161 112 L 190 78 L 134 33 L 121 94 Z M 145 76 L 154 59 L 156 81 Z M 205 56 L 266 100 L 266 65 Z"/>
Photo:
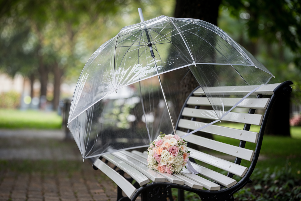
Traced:
<path id="1" fill-rule="evenodd" d="M 180 119 L 180 121 L 178 123 L 178 127 L 184 128 L 184 129 L 195 130 L 202 126 L 205 126 L 206 124 L 207 123 L 198 122 L 198 121 Z M 253 143 L 257 143 L 257 139 L 258 139 L 258 132 L 228 128 L 228 127 L 224 127 L 224 126 L 210 125 L 204 129 L 202 129 L 201 131 L 219 135 L 219 136 L 225 136 L 225 137 L 229 137 L 229 138 L 239 139 L 239 140 L 243 140 L 243 141 L 247 141 L 247 142 L 253 142 Z M 187 134 L 182 131 L 177 131 L 177 132 Z"/>

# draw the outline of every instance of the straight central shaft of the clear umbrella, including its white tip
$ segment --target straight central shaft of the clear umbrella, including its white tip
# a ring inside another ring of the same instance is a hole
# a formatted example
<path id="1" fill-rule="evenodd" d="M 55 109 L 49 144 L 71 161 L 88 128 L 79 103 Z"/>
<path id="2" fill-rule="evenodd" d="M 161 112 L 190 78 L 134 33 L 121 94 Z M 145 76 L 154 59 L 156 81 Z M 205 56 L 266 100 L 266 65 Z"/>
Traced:
<path id="1" fill-rule="evenodd" d="M 138 8 L 138 12 L 139 12 L 139 16 L 140 16 L 141 22 L 144 22 L 144 17 L 143 17 L 143 14 L 142 14 L 142 9 Z M 156 63 L 156 59 L 155 59 L 155 55 L 154 55 L 154 50 L 152 48 L 151 39 L 150 39 L 150 37 L 148 35 L 148 31 L 147 31 L 146 26 L 144 26 L 144 31 L 145 31 L 145 34 L 146 34 L 146 37 L 147 37 L 147 42 L 148 42 L 147 45 L 148 45 L 148 47 L 150 49 L 151 57 L 154 59 L 154 63 L 155 63 L 156 71 L 157 71 L 157 74 L 158 74 L 158 79 L 159 79 L 161 91 L 162 91 L 163 98 L 164 98 L 164 101 L 165 101 L 165 104 L 166 104 L 166 108 L 167 108 L 167 112 L 168 112 L 168 115 L 169 115 L 169 118 L 170 118 L 170 121 L 171 121 L 172 129 L 173 129 L 174 134 L 176 134 L 175 124 L 173 123 L 172 116 L 171 116 L 171 113 L 170 113 L 170 110 L 169 110 L 169 107 L 168 107 L 168 104 L 167 104 L 165 92 L 164 92 L 164 89 L 163 89 L 163 86 L 162 86 L 162 82 L 161 82 L 161 79 L 160 79 L 160 75 L 159 75 L 159 72 L 158 72 L 158 68 L 157 68 L 157 63 Z"/>

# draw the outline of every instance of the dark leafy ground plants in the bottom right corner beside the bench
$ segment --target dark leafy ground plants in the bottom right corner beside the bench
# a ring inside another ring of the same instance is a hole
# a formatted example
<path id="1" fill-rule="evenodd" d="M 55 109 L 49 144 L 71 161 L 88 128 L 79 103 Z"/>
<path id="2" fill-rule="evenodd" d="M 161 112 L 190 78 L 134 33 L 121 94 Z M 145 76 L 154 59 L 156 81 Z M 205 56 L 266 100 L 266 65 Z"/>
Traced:
<path id="1" fill-rule="evenodd" d="M 291 174 L 290 168 L 256 168 L 252 174 L 252 186 L 245 187 L 234 194 L 242 201 L 293 201 L 301 199 L 301 181 Z"/>

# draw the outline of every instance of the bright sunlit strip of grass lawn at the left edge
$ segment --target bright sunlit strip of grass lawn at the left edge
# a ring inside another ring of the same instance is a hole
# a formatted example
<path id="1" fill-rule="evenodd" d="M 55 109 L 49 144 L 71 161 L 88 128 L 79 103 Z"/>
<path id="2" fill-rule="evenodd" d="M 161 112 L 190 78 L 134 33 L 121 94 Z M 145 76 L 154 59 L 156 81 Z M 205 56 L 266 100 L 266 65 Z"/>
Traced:
<path id="1" fill-rule="evenodd" d="M 62 117 L 56 112 L 0 109 L 2 129 L 60 129 Z"/>

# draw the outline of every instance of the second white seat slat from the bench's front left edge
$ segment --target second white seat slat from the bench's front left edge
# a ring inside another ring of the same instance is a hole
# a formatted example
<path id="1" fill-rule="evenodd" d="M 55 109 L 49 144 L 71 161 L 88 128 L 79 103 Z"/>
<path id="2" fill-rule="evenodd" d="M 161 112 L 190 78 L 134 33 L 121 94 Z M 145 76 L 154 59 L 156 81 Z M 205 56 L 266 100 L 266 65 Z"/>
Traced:
<path id="1" fill-rule="evenodd" d="M 114 153 L 112 153 L 112 155 L 118 157 L 119 159 L 123 160 L 124 162 L 126 162 L 127 164 L 132 166 L 133 168 L 137 169 L 142 174 L 147 176 L 150 180 L 152 180 L 154 182 L 165 182 L 165 177 L 163 177 L 162 175 L 158 174 L 157 172 L 152 171 L 151 169 L 147 168 L 144 164 L 142 164 L 138 161 L 132 160 L 132 158 L 130 158 L 122 153 L 119 153 L 119 152 L 114 152 Z"/>

